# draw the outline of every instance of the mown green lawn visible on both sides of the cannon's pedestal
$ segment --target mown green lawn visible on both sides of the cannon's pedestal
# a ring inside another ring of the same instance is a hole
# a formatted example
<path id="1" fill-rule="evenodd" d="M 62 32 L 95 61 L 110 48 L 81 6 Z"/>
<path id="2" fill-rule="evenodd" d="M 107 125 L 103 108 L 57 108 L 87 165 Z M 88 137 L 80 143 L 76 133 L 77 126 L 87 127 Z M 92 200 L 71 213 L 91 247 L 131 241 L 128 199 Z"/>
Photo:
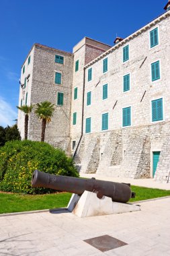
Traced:
<path id="1" fill-rule="evenodd" d="M 136 198 L 130 199 L 131 202 L 170 195 L 169 190 L 149 189 L 137 186 L 131 186 L 131 189 L 136 193 Z M 71 193 L 48 195 L 0 193 L 0 214 L 66 207 L 70 198 Z"/>

